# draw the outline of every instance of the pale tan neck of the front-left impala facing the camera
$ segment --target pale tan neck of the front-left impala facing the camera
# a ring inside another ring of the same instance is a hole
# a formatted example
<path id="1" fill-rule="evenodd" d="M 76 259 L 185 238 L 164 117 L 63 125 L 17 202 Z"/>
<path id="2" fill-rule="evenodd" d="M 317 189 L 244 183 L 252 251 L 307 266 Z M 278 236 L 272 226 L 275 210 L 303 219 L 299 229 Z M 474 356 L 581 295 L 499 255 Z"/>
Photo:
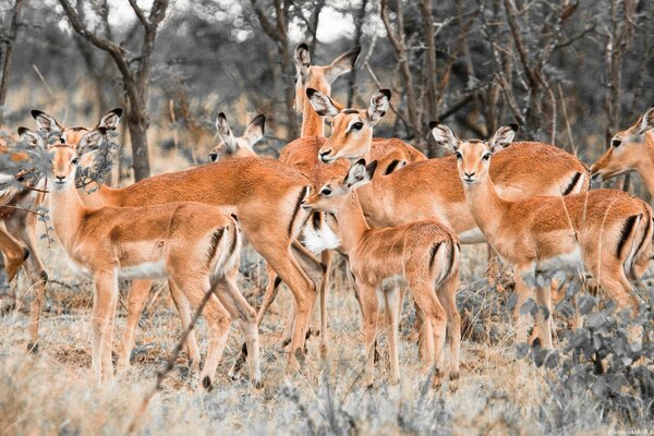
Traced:
<path id="1" fill-rule="evenodd" d="M 55 183 L 50 180 L 49 184 L 52 186 Z M 62 190 L 50 189 L 49 196 L 50 219 L 55 233 L 65 247 L 70 247 L 75 231 L 82 226 L 86 207 L 74 183 Z"/>

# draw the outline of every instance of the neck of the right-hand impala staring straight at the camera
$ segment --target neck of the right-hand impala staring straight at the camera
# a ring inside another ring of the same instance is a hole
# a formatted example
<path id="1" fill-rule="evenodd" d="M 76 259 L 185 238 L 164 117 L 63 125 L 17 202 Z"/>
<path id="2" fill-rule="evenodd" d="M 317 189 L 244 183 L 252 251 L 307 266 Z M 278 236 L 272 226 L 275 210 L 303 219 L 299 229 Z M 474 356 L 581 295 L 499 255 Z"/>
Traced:
<path id="1" fill-rule="evenodd" d="M 495 246 L 495 237 L 500 230 L 501 219 L 509 202 L 497 194 L 488 173 L 473 185 L 464 183 L 463 191 L 472 218 L 486 237 L 486 240 Z"/>

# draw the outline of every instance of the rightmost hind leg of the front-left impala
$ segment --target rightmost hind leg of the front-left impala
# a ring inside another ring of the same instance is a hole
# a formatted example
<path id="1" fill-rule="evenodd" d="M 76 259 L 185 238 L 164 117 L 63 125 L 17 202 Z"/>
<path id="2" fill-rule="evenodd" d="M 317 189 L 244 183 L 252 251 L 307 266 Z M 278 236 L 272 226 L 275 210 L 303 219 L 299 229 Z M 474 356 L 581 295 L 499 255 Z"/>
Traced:
<path id="1" fill-rule="evenodd" d="M 261 352 L 258 326 L 256 324 L 256 312 L 247 304 L 235 281 L 237 269 L 228 274 L 225 279 L 216 283 L 216 295 L 220 303 L 227 308 L 231 318 L 241 329 L 247 347 L 247 360 L 250 363 L 250 378 L 256 388 L 263 386 L 261 370 Z"/>

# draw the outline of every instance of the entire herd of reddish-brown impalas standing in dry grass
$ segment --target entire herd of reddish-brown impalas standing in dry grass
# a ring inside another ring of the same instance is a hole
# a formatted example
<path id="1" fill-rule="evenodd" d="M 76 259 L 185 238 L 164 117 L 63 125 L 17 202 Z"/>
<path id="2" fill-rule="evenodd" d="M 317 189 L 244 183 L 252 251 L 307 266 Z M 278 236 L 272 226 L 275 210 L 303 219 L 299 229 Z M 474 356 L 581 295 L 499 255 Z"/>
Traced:
<path id="1" fill-rule="evenodd" d="M 214 384 L 231 324 L 245 341 L 238 362 L 246 360 L 253 385 L 262 386 L 258 327 L 282 282 L 293 295 L 283 343 L 289 346 L 289 370 L 295 371 L 316 299 L 322 353 L 329 346 L 326 299 L 335 251 L 347 259 L 363 317 L 367 385 L 374 384 L 379 324 L 389 334 L 391 382 L 400 379 L 404 290 L 420 315 L 420 356 L 435 367 L 434 383 L 444 375 L 459 376 L 460 244 L 487 242 L 512 267 L 517 341 L 525 341 L 529 330 L 520 308 L 535 295 L 542 310 L 534 331 L 543 347 L 553 347 L 550 290 L 558 271 L 592 275 L 619 310 L 638 312 L 635 289 L 652 252 L 652 208 L 626 192 L 590 190 L 590 184 L 591 178 L 637 170 L 654 192 L 654 108 L 617 133 L 590 171 L 552 144 L 513 142 L 514 124 L 501 126 L 487 141 L 463 141 L 433 122 L 436 143 L 452 155 L 427 159 L 401 140 L 373 137 L 389 110 L 388 89 L 375 93 L 361 109 L 343 108 L 330 97 L 332 82 L 354 66 L 359 53 L 358 47 L 318 66 L 311 63 L 306 45 L 298 47 L 295 107 L 302 133 L 279 159 L 258 157 L 253 149 L 264 136 L 264 116 L 237 136 L 220 113 L 216 129 L 221 142 L 209 155 L 211 164 L 125 187 L 99 184 L 90 192 L 75 184 L 78 169 L 94 166 L 106 136 L 118 128 L 121 109 L 108 112 L 95 128 L 65 128 L 33 110 L 38 132 L 20 128 L 19 135 L 47 153 L 47 178 L 16 187 L 9 182 L 21 181 L 20 172 L 1 174 L 0 193 L 2 205 L 17 206 L 1 215 L 7 276 L 11 281 L 24 269 L 35 289 L 28 348 L 38 344 L 48 280 L 36 244 L 37 219 L 27 211 L 40 204 L 48 205 L 71 265 L 95 283 L 92 368 L 98 380 L 110 380 L 114 373 L 119 279 L 132 280 L 119 368 L 130 364 L 153 280 L 166 278 L 183 328 L 192 327 L 193 310 L 202 310 L 206 318 L 209 339 L 202 370 L 193 331 L 185 339 L 191 370 L 199 372 L 205 387 Z M 326 122 L 331 125 L 328 137 Z M 45 141 L 45 134 L 58 140 Z M 3 145 L 3 153 L 11 149 Z M 238 288 L 245 243 L 268 268 L 258 313 Z"/>

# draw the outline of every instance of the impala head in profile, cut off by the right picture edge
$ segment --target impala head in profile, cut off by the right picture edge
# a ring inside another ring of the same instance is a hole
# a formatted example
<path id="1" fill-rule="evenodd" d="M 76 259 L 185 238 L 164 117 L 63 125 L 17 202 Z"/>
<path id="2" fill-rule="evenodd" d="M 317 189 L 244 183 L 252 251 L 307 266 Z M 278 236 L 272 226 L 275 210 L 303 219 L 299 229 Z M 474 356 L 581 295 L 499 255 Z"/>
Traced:
<path id="1" fill-rule="evenodd" d="M 631 128 L 616 133 L 610 147 L 593 164 L 593 180 L 604 181 L 638 171 L 654 195 L 654 107 Z"/>

